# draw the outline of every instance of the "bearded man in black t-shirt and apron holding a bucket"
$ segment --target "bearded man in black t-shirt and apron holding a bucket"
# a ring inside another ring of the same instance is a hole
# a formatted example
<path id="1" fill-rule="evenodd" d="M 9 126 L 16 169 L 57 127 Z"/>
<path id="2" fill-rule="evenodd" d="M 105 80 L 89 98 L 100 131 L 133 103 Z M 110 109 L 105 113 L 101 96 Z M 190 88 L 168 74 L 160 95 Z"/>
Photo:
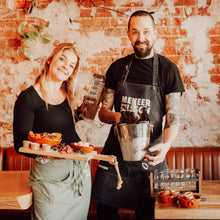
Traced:
<path id="1" fill-rule="evenodd" d="M 99 162 L 92 198 L 98 202 L 100 220 L 117 219 L 118 208 L 134 209 L 136 219 L 154 219 L 149 172 L 167 168 L 165 156 L 178 133 L 178 107 L 184 87 L 177 66 L 153 51 L 157 31 L 152 15 L 134 12 L 128 23 L 128 37 L 134 55 L 117 60 L 108 69 L 99 118 L 105 123 L 119 123 L 120 112 L 130 110 L 131 100 L 135 100 L 139 114 L 143 107 L 148 108 L 154 131 L 146 157 L 142 161 L 124 161 L 112 126 L 102 153 L 117 156 L 123 184 L 117 190 L 114 167 Z"/>

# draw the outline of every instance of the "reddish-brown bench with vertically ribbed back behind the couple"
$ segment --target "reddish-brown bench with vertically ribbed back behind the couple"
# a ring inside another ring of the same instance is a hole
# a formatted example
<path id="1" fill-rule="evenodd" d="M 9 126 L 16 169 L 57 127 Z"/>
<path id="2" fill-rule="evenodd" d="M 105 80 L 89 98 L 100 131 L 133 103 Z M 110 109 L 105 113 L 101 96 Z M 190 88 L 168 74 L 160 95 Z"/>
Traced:
<path id="1" fill-rule="evenodd" d="M 101 153 L 102 148 L 95 149 Z M 220 180 L 220 147 L 172 147 L 166 156 L 170 169 L 195 168 L 201 170 L 203 180 Z M 17 154 L 13 147 L 0 148 L 0 170 L 30 170 L 34 159 Z M 94 179 L 98 161 L 90 161 Z M 31 208 L 23 211 L 0 210 L 1 220 L 30 219 Z M 89 220 L 96 219 L 96 202 L 91 201 Z M 135 219 L 133 210 L 119 210 L 119 219 Z"/>

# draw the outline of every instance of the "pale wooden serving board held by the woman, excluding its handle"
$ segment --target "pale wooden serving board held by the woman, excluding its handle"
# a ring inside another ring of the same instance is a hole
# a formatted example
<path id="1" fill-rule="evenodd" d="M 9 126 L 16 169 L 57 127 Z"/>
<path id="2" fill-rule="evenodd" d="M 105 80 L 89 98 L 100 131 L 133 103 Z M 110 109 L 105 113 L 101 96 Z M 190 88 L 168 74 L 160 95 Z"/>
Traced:
<path id="1" fill-rule="evenodd" d="M 52 149 L 50 151 L 43 151 L 42 149 L 32 150 L 30 148 L 24 148 L 24 147 L 20 147 L 19 152 L 48 156 L 48 157 L 70 159 L 70 160 L 81 160 L 81 161 L 89 161 L 93 158 L 94 155 L 97 154 L 96 151 L 93 151 L 91 153 L 85 153 L 85 154 L 80 154 L 80 153 L 61 154 L 58 151 L 54 151 Z"/>

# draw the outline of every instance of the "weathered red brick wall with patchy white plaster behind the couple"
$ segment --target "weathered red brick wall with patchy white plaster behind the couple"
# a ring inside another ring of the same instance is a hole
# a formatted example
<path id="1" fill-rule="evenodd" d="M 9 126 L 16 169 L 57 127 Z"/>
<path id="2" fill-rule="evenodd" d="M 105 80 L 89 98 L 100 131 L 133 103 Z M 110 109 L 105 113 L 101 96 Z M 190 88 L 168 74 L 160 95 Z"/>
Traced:
<path id="1" fill-rule="evenodd" d="M 75 42 L 81 53 L 80 103 L 92 74 L 104 75 L 114 60 L 132 52 L 127 38 L 127 15 L 138 9 L 159 9 L 154 15 L 159 34 L 155 50 L 178 65 L 186 88 L 181 128 L 174 145 L 219 145 L 219 0 L 166 0 L 161 7 L 162 0 L 93 0 L 100 7 L 89 0 L 35 0 L 30 14 L 22 9 L 12 10 L 7 4 L 10 1 L 0 0 L 0 146 L 13 145 L 16 97 L 34 82 L 54 45 Z M 51 42 L 44 47 L 34 45 L 33 62 L 18 57 L 19 23 L 24 22 L 28 29 L 31 23 L 45 21 L 50 22 Z M 109 126 L 96 118 L 93 122 L 81 122 L 77 129 L 83 139 L 102 146 Z"/>

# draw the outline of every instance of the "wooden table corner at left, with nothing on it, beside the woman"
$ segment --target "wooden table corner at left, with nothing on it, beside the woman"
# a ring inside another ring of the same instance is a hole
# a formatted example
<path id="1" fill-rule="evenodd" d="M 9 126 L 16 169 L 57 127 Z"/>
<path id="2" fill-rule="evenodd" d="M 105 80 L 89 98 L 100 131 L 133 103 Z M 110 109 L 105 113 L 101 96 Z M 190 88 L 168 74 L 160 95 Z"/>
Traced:
<path id="1" fill-rule="evenodd" d="M 0 209 L 28 209 L 32 191 L 28 186 L 30 171 L 0 171 Z"/>

